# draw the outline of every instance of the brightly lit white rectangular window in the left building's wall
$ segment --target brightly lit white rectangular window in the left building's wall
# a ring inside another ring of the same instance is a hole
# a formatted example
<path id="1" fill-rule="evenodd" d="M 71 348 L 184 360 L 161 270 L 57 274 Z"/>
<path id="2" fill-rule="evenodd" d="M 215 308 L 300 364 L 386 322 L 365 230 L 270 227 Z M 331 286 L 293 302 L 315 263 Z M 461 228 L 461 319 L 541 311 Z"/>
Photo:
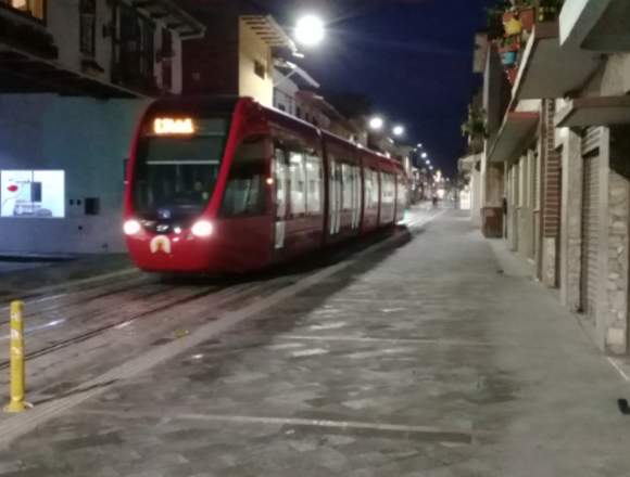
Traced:
<path id="1" fill-rule="evenodd" d="M 63 170 L 0 171 L 0 217 L 63 218 Z"/>

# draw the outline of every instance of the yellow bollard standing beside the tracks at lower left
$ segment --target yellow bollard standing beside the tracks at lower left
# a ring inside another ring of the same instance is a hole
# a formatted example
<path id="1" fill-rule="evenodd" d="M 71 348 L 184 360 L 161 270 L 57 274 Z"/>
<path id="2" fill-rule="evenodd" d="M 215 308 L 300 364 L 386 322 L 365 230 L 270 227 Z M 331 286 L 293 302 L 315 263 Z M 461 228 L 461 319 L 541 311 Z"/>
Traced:
<path id="1" fill-rule="evenodd" d="M 11 402 L 5 412 L 23 412 L 32 405 L 26 402 L 24 369 L 24 302 L 11 302 Z"/>

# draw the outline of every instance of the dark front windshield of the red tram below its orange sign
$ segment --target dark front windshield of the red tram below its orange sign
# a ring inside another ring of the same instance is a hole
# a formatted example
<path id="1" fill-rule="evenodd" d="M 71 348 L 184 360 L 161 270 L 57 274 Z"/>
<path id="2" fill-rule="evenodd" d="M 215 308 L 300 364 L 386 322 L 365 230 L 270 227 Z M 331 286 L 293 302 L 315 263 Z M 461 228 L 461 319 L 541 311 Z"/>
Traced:
<path id="1" fill-rule="evenodd" d="M 138 147 L 134 207 L 144 219 L 186 219 L 206 207 L 227 141 L 228 119 L 197 123 L 191 134 L 147 134 Z"/>

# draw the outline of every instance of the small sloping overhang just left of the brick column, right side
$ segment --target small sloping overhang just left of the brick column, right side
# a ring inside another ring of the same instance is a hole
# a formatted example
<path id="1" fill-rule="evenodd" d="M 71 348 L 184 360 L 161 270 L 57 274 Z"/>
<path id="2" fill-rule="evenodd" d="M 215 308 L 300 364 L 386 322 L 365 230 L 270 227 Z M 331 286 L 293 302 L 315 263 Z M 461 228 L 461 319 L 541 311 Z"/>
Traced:
<path id="1" fill-rule="evenodd" d="M 517 159 L 527 147 L 527 141 L 536 132 L 539 113 L 508 112 L 488 154 L 489 163 L 505 163 Z"/>

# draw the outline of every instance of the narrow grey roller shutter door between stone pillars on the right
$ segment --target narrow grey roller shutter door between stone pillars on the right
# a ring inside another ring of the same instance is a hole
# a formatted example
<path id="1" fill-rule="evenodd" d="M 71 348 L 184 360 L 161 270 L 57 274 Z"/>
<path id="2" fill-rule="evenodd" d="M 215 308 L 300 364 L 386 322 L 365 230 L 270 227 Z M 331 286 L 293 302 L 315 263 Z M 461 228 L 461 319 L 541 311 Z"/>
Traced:
<path id="1" fill-rule="evenodd" d="M 594 318 L 598 282 L 598 203 L 600 203 L 600 149 L 590 130 L 582 140 L 582 311 Z"/>

